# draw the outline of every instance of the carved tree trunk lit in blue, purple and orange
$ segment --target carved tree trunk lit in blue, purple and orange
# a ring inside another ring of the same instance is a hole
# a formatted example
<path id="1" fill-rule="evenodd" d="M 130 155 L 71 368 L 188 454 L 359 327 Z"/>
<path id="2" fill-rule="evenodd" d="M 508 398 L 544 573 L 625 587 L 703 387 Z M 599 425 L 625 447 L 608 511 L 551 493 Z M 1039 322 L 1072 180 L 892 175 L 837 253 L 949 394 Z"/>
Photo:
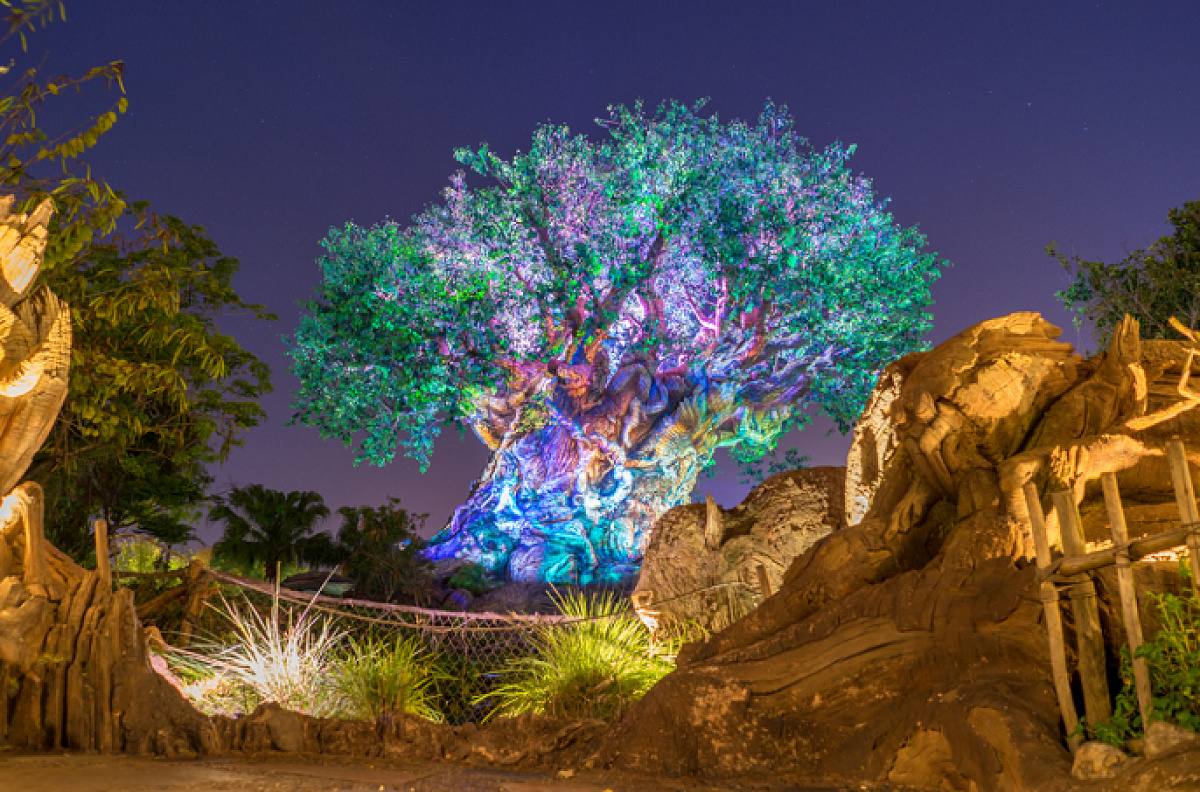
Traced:
<path id="1" fill-rule="evenodd" d="M 764 422 L 720 383 L 634 362 L 589 386 L 578 368 L 481 404 L 475 431 L 492 458 L 428 558 L 522 582 L 636 576 L 654 521 L 688 499 L 713 451 L 744 436 L 748 416 Z"/>

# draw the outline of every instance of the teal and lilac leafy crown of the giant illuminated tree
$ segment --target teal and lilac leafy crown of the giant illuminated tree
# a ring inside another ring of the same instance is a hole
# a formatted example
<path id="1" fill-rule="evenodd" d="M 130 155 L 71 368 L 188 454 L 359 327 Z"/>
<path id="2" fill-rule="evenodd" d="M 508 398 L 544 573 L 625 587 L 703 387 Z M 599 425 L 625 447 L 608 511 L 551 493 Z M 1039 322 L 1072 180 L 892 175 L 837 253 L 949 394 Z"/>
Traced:
<path id="1" fill-rule="evenodd" d="M 812 150 L 772 103 L 756 124 L 702 108 L 610 108 L 596 143 L 542 126 L 510 160 L 460 149 L 488 186 L 460 173 L 407 229 L 331 230 L 293 420 L 424 467 L 443 425 L 589 349 L 600 388 L 637 361 L 724 386 L 748 409 L 713 444 L 772 449 L 803 404 L 852 425 L 929 329 L 940 262 L 850 172 L 852 146 Z"/>

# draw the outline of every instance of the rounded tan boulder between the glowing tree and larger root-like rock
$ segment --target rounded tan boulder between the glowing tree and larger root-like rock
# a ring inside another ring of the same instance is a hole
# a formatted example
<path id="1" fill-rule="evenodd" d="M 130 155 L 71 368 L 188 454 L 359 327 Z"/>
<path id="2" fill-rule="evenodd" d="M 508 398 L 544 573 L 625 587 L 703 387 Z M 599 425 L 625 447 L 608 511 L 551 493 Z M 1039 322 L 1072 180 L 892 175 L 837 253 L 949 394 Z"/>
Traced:
<path id="1" fill-rule="evenodd" d="M 761 568 L 778 590 L 792 560 L 845 526 L 845 468 L 780 473 L 733 509 L 709 497 L 655 524 L 634 590 L 649 624 L 728 626 L 762 599 Z"/>

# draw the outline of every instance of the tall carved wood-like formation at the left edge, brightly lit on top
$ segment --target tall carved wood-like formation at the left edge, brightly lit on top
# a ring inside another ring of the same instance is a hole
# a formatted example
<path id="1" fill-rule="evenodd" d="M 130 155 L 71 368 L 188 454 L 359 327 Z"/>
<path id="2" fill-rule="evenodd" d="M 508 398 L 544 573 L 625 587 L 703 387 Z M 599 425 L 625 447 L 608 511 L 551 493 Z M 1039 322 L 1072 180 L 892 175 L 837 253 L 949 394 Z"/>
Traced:
<path id="1" fill-rule="evenodd" d="M 29 292 L 49 200 L 31 215 L 0 200 L 0 745 L 194 755 L 216 730 L 155 673 L 128 589 L 86 571 L 42 535 L 42 488 L 18 484 L 67 391 L 71 313 Z"/>

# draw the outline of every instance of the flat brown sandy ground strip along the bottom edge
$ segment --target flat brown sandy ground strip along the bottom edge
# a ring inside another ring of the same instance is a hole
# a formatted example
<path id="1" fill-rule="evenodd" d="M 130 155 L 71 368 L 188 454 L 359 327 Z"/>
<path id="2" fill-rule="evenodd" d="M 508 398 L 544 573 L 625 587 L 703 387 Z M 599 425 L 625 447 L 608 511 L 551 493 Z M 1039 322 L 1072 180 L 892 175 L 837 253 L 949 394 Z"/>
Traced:
<path id="1" fill-rule="evenodd" d="M 0 754 L 0 792 L 850 792 L 776 781 L 708 785 L 608 773 L 497 772 L 451 766 L 154 760 L 126 756 Z"/>

